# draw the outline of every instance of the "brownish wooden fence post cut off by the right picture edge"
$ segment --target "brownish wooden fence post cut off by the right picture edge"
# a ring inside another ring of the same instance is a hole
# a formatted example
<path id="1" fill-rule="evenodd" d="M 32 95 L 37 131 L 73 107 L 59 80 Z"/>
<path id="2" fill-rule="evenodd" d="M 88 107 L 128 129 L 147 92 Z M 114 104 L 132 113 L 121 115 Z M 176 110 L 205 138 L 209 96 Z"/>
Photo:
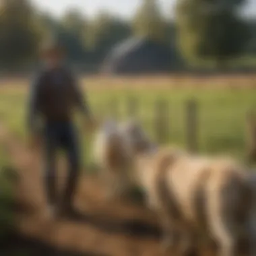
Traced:
<path id="1" fill-rule="evenodd" d="M 247 158 L 256 161 L 256 115 L 253 110 L 247 114 Z"/>

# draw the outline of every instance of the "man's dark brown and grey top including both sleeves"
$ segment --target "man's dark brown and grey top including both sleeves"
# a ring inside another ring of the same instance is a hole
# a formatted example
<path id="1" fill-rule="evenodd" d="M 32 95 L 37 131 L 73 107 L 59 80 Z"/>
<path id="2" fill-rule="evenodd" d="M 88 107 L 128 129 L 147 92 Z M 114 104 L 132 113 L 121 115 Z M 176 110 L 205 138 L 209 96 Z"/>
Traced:
<path id="1" fill-rule="evenodd" d="M 90 109 L 75 77 L 66 68 L 44 69 L 30 88 L 28 129 L 37 129 L 38 117 L 44 122 L 71 121 L 78 107 L 90 118 Z"/>

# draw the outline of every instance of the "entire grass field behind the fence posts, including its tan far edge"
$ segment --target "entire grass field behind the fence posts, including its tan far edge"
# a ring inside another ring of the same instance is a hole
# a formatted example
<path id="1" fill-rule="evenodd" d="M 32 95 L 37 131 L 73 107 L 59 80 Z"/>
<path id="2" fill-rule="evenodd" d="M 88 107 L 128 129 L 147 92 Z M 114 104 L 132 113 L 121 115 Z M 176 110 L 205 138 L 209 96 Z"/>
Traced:
<path id="1" fill-rule="evenodd" d="M 11 82 L 1 87 L 0 117 L 21 139 L 26 138 L 26 82 Z M 179 86 L 173 86 L 179 84 Z M 154 102 L 168 101 L 170 131 L 166 144 L 185 146 L 185 103 L 191 98 L 199 104 L 199 150 L 243 157 L 246 146 L 245 117 L 255 107 L 256 91 L 253 77 L 221 79 L 168 78 L 90 78 L 86 80 L 89 102 L 95 115 L 111 116 L 113 102 L 119 119 L 127 117 L 127 98 L 134 96 L 139 103 L 138 116 L 148 133 L 154 137 Z M 203 86 L 205 85 L 205 86 Z M 239 86 L 240 85 L 240 86 Z M 112 104 L 111 104 L 112 102 Z M 111 106 L 112 105 L 112 106 Z M 85 136 L 84 159 L 90 158 L 90 140 Z M 88 142 L 89 141 L 89 142 Z M 87 156 L 87 157 L 86 157 Z M 86 162 L 86 160 L 85 160 Z"/>

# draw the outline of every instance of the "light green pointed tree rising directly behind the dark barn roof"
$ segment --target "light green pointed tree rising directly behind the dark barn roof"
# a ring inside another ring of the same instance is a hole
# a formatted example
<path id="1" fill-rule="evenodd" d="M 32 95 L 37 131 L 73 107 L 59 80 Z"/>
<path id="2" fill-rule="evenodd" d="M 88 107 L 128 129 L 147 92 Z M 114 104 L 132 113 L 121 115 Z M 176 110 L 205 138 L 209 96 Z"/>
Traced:
<path id="1" fill-rule="evenodd" d="M 166 40 L 166 22 L 156 0 L 143 0 L 135 14 L 133 29 L 136 36 L 160 42 Z"/>

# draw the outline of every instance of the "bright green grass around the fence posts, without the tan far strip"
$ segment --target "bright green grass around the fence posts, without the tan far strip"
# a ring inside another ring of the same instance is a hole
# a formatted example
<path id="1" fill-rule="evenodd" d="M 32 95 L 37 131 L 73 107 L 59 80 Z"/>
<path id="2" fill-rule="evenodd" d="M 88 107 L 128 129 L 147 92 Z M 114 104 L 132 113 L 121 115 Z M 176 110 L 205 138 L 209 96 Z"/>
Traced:
<path id="1" fill-rule="evenodd" d="M 115 112 L 119 119 L 127 117 L 127 98 L 137 98 L 138 116 L 148 133 L 154 137 L 154 102 L 168 101 L 170 132 L 166 144 L 185 146 L 185 104 L 191 98 L 199 106 L 199 151 L 205 153 L 226 153 L 243 158 L 246 149 L 245 117 L 250 108 L 256 109 L 256 92 L 253 89 L 205 89 L 183 88 L 129 91 L 102 88 L 88 90 L 88 98 L 96 115 L 111 115 L 113 100 L 118 101 Z M 0 117 L 21 139 L 26 139 L 26 90 L 2 90 L 0 94 Z M 84 137 L 84 162 L 90 160 L 92 138 Z"/>

